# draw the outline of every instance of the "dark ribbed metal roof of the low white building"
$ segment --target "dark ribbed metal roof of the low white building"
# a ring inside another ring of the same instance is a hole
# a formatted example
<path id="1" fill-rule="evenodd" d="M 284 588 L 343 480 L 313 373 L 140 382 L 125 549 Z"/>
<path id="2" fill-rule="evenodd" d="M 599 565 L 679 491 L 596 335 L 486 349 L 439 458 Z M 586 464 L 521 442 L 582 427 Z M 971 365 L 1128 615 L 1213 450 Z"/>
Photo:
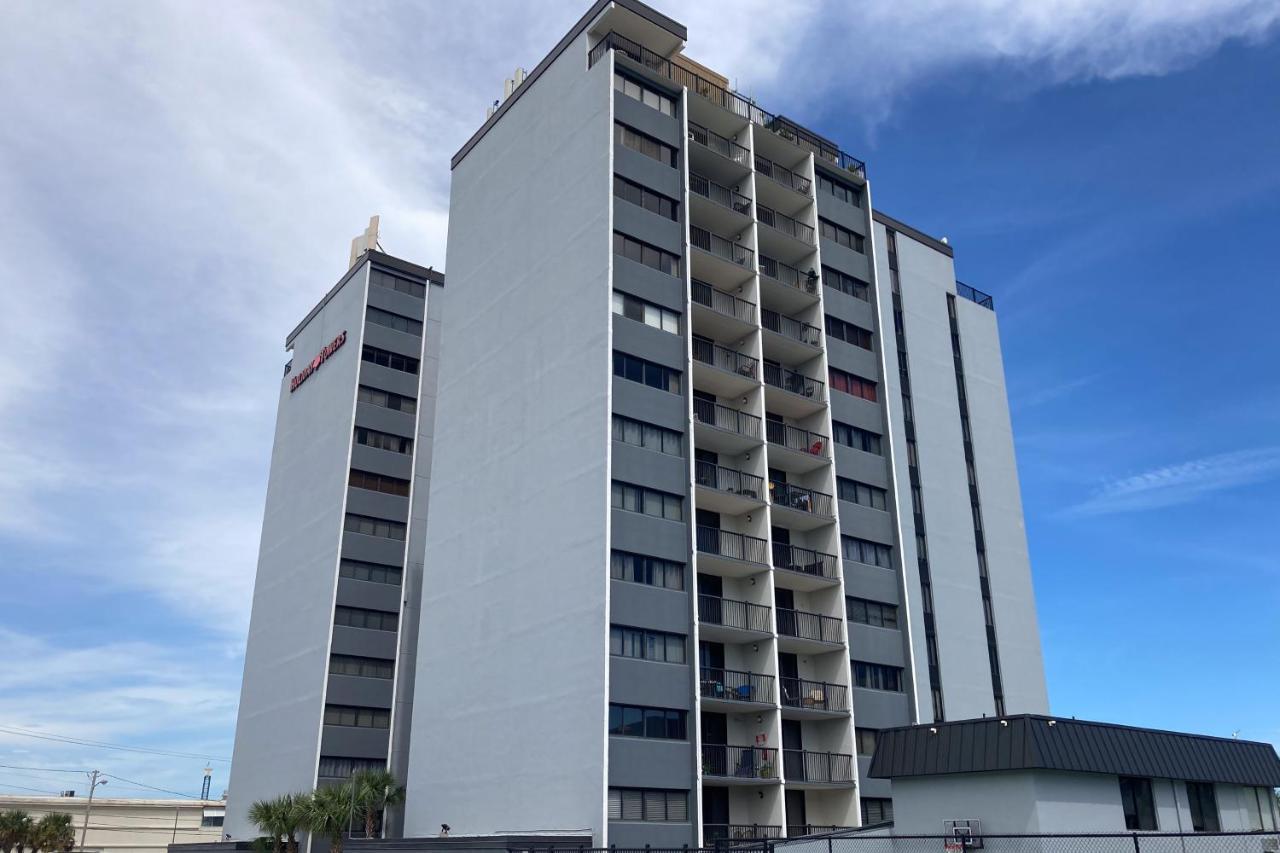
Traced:
<path id="1" fill-rule="evenodd" d="M 1280 756 L 1256 740 L 1021 715 L 886 729 L 877 779 L 995 770 L 1066 770 L 1117 776 L 1280 786 Z"/>

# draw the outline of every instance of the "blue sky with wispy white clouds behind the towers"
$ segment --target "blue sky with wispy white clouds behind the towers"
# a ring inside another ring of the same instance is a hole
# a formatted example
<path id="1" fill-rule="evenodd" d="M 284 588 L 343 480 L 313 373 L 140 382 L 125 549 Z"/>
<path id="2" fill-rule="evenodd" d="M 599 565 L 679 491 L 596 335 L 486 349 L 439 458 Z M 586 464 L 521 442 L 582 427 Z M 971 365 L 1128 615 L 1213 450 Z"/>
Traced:
<path id="1" fill-rule="evenodd" d="M 1055 713 L 1280 743 L 1280 3 L 1121 5 L 662 8 L 995 295 Z M 582 8 L 9 6 L 0 790 L 230 754 L 283 336 Z"/>

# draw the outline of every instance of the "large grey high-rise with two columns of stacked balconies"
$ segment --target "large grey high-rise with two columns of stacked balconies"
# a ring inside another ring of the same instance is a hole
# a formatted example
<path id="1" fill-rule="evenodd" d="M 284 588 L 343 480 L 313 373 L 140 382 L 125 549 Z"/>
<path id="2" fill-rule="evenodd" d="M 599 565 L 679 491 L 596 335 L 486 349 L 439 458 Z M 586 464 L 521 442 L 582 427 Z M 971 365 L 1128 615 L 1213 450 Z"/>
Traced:
<path id="1" fill-rule="evenodd" d="M 795 836 L 1046 711 L 991 298 L 600 0 L 453 159 L 406 834 Z"/>

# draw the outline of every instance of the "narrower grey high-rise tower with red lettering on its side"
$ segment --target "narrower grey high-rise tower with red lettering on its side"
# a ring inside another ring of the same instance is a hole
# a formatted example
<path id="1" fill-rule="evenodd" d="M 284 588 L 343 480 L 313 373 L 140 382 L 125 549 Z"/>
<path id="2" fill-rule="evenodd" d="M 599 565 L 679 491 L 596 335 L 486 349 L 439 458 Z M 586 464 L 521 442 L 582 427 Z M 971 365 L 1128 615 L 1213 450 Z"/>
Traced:
<path id="1" fill-rule="evenodd" d="M 407 772 L 443 283 L 365 251 L 285 339 L 232 838 L 253 800 Z"/>

